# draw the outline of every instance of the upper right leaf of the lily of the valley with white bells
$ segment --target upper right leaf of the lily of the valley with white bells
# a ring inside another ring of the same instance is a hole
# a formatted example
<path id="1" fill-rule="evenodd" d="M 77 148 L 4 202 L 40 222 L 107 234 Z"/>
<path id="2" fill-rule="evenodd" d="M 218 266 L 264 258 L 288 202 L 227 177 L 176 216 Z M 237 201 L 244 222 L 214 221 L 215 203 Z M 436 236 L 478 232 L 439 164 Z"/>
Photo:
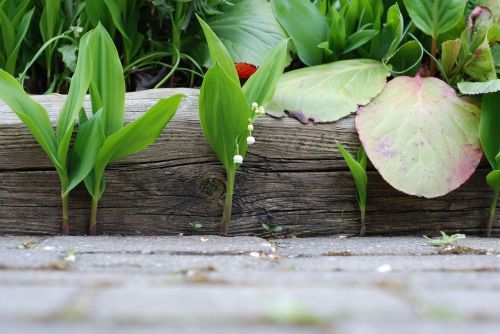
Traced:
<path id="1" fill-rule="evenodd" d="M 268 103 L 276 91 L 278 81 L 287 62 L 287 41 L 281 41 L 264 60 L 262 66 L 243 86 L 249 103 Z"/>

